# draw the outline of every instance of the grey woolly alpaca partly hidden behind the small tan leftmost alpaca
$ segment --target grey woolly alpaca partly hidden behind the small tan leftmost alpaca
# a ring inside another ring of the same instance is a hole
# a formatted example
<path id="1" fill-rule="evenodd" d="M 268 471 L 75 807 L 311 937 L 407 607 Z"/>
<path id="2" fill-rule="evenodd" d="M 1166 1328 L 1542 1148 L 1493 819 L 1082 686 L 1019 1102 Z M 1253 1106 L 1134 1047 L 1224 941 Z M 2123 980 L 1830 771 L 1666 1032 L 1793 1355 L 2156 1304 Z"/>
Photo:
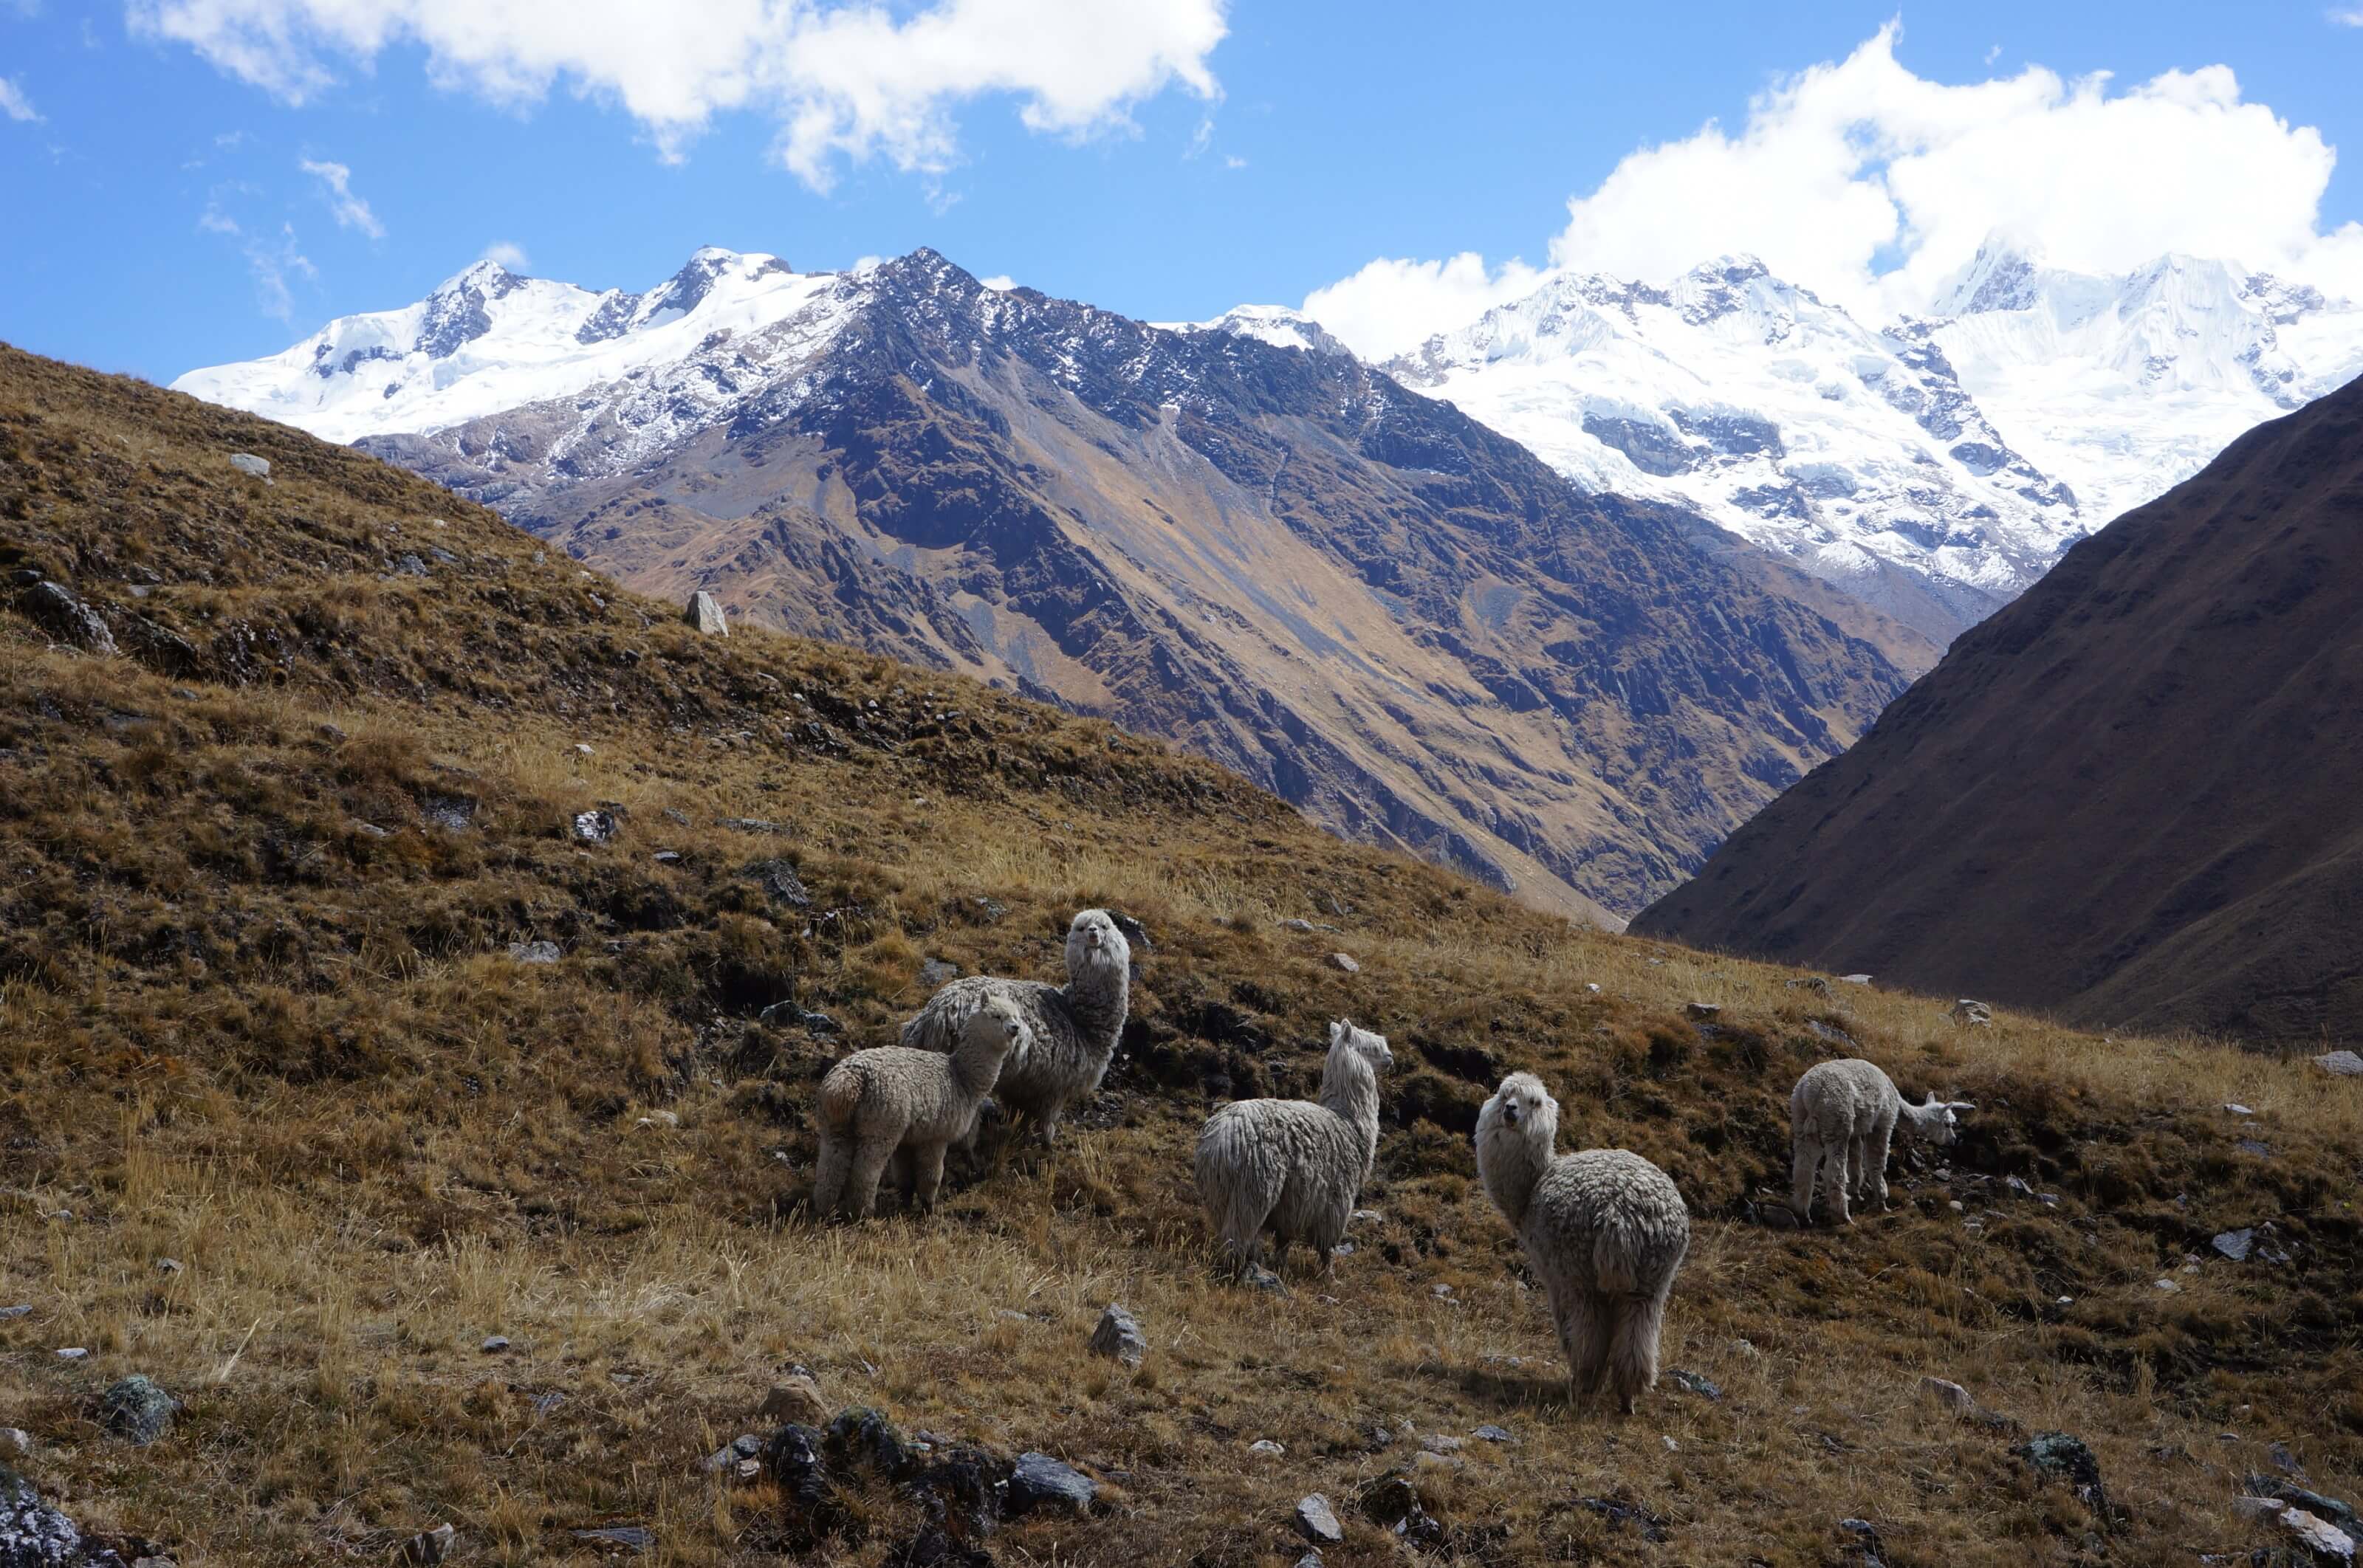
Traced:
<path id="1" fill-rule="evenodd" d="M 1030 1039 L 1002 1067 L 995 1100 L 1023 1112 L 1042 1143 L 1059 1136 L 1059 1117 L 1075 1100 L 1099 1093 L 1115 1041 L 1132 1006 L 1132 945 L 1106 909 L 1085 909 L 1066 928 L 1066 985 L 969 975 L 929 997 L 919 1015 L 903 1025 L 903 1044 L 914 1051 L 952 1051 L 959 1025 L 985 1004 L 1007 997 L 1026 1020 Z M 974 1141 L 974 1129 L 966 1145 Z"/>

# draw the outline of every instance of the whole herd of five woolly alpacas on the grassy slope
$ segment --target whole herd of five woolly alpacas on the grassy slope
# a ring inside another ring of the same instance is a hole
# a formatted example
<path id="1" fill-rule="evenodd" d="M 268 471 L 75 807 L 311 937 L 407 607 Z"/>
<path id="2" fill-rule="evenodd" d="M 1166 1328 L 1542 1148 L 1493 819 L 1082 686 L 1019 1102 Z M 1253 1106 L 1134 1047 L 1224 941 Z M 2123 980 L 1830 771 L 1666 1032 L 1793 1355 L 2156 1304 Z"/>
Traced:
<path id="1" fill-rule="evenodd" d="M 1059 1117 L 1099 1091 L 1125 1032 L 1130 987 L 1125 933 L 1106 909 L 1085 909 L 1066 933 L 1066 985 L 971 975 L 938 989 L 903 1025 L 903 1044 L 855 1051 L 822 1079 L 813 1211 L 867 1219 L 886 1174 L 907 1204 L 933 1209 L 943 1155 L 976 1141 L 988 1096 L 1052 1143 Z M 1233 1275 L 1267 1278 L 1267 1235 L 1274 1268 L 1304 1242 L 1335 1270 L 1378 1157 L 1378 1079 L 1392 1065 L 1385 1037 L 1340 1020 L 1319 1098 L 1233 1100 L 1205 1119 L 1193 1174 Z M 1836 1223 L 1853 1223 L 1850 1200 L 1886 1207 L 1895 1131 L 1942 1148 L 1964 1110 L 1975 1108 L 1935 1096 L 1912 1105 L 1864 1060 L 1810 1067 L 1789 1098 L 1798 1223 L 1810 1221 L 1815 1171 Z M 1560 1103 L 1531 1072 L 1512 1072 L 1477 1115 L 1477 1174 L 1543 1282 L 1574 1403 L 1607 1391 L 1630 1415 L 1656 1386 L 1656 1341 L 1690 1252 L 1690 1209 L 1640 1155 L 1562 1155 L 1557 1136 Z"/>

